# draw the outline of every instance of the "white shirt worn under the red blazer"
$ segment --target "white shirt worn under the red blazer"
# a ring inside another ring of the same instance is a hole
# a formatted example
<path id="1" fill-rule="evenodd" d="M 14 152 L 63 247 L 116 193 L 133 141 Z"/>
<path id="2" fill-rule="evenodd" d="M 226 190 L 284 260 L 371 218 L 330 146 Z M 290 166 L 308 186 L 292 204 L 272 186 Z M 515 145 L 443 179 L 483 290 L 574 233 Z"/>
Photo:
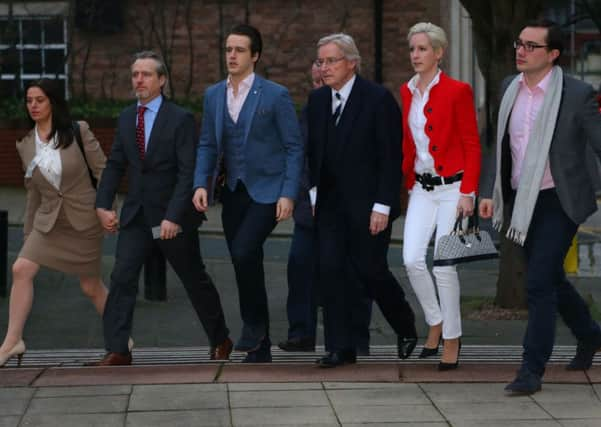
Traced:
<path id="1" fill-rule="evenodd" d="M 417 88 L 419 82 L 419 75 L 416 74 L 409 80 L 407 84 L 411 94 L 411 107 L 409 109 L 409 128 L 411 129 L 411 135 L 413 135 L 413 142 L 415 143 L 415 173 L 420 175 L 423 173 L 430 173 L 437 176 L 436 168 L 434 167 L 434 158 L 430 154 L 430 138 L 424 131 L 426 127 L 426 115 L 424 114 L 424 108 L 430 99 L 430 90 L 438 84 L 440 81 L 440 70 L 436 73 L 436 76 L 432 79 L 430 84 L 426 87 L 426 90 L 422 94 Z"/>

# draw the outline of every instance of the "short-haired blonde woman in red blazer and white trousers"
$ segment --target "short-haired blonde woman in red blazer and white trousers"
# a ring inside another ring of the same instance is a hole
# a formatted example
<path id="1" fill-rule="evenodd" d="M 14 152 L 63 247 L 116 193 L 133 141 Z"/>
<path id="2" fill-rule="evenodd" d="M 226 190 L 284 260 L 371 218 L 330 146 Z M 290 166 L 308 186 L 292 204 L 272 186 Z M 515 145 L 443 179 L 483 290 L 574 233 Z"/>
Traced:
<path id="1" fill-rule="evenodd" d="M 426 251 L 449 234 L 459 213 L 470 216 L 480 175 L 480 141 L 470 86 L 439 68 L 447 38 L 431 23 L 414 25 L 407 36 L 415 76 L 401 87 L 403 175 L 410 192 L 403 262 L 430 329 L 421 358 L 438 354 L 439 370 L 455 369 L 461 347 L 459 278 L 454 266 L 426 266 Z"/>

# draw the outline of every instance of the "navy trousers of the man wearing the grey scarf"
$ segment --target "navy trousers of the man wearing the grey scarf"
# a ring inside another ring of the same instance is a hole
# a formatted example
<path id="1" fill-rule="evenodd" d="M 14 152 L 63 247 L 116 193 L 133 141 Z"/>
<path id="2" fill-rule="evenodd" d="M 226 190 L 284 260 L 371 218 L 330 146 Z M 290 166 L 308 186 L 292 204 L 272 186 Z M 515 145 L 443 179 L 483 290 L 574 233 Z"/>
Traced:
<path id="1" fill-rule="evenodd" d="M 553 351 L 557 312 L 578 341 L 601 346 L 599 325 L 563 268 L 577 230 L 578 224 L 566 215 L 555 189 L 541 191 L 524 244 L 528 326 L 522 362 L 539 376 Z"/>

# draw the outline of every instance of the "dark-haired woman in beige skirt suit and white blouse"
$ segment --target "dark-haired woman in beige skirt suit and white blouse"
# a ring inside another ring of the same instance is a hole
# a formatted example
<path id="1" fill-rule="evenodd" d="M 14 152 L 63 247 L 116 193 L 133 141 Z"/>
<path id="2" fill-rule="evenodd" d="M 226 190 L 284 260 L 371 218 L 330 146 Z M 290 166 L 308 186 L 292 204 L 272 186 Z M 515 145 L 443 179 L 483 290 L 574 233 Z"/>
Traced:
<path id="1" fill-rule="evenodd" d="M 83 293 L 101 315 L 107 298 L 101 280 L 103 231 L 88 172 L 89 165 L 99 179 L 106 158 L 88 124 L 80 122 L 84 158 L 61 92 L 50 79 L 34 81 L 26 92 L 33 129 L 17 142 L 27 189 L 25 239 L 12 268 L 9 322 L 0 347 L 0 366 L 11 357 L 17 357 L 20 364 L 25 353 L 23 328 L 40 266 L 77 275 Z"/>

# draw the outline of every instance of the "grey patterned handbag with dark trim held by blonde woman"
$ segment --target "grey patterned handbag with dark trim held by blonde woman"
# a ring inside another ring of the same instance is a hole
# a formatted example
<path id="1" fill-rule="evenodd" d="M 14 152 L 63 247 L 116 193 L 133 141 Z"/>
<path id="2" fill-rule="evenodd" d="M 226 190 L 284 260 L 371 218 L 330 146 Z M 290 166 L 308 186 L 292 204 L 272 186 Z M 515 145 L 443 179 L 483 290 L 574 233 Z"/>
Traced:
<path id="1" fill-rule="evenodd" d="M 499 256 L 490 234 L 480 230 L 477 213 L 474 212 L 470 217 L 467 230 L 463 229 L 462 223 L 463 216 L 460 215 L 451 233 L 439 239 L 434 255 L 435 266 L 455 265 Z"/>

